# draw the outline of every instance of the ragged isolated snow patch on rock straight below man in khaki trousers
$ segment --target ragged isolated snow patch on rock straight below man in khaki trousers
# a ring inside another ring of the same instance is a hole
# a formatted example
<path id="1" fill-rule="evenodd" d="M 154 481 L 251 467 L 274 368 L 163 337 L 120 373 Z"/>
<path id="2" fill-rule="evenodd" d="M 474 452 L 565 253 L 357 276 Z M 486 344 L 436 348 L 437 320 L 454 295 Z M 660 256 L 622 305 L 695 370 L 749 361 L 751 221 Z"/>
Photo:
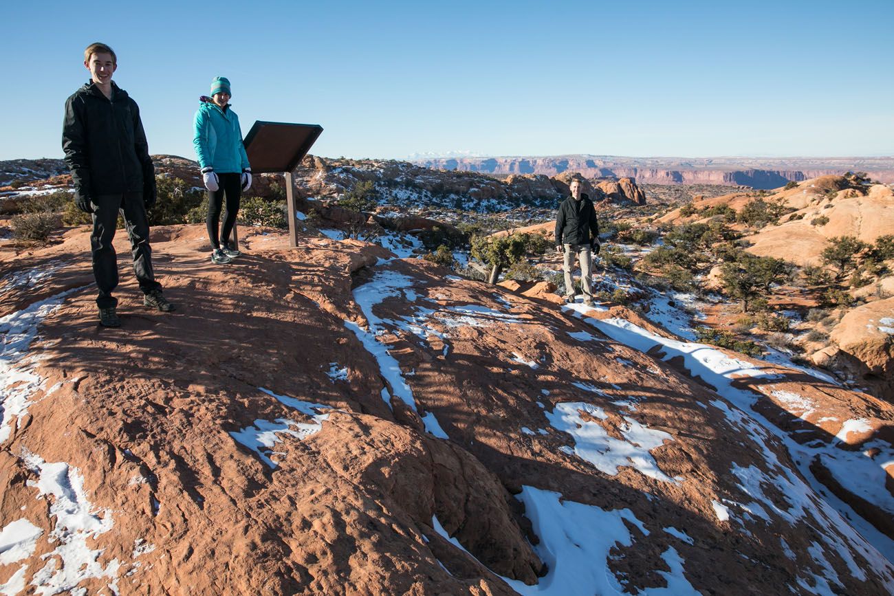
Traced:
<path id="1" fill-rule="evenodd" d="M 567 432 L 574 439 L 575 455 L 593 464 L 603 474 L 614 476 L 618 474 L 619 467 L 630 466 L 655 480 L 676 482 L 659 469 L 650 453 L 652 449 L 661 447 L 664 441 L 673 441 L 671 434 L 650 429 L 624 416 L 626 424 L 619 428 L 624 436 L 624 441 L 621 441 L 609 435 L 602 424 L 585 420 L 582 412 L 589 418 L 608 418 L 603 408 L 582 401 L 556 404 L 552 412 L 546 413 L 552 428 Z"/>

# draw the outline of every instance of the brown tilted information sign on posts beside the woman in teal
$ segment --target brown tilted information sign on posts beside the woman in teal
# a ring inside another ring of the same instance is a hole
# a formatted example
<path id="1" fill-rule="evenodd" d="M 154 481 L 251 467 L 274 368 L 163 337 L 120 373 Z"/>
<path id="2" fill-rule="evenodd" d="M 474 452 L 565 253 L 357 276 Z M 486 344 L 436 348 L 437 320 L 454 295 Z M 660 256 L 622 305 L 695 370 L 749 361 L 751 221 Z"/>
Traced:
<path id="1" fill-rule="evenodd" d="M 323 132 L 319 124 L 291 124 L 289 122 L 257 121 L 245 136 L 245 152 L 249 155 L 251 173 L 280 173 L 285 175 L 286 209 L 289 219 L 289 246 L 298 246 L 298 222 L 295 209 L 295 180 L 292 172 L 308 155 L 316 139 Z M 232 228 L 233 242 L 237 241 L 236 226 Z"/>

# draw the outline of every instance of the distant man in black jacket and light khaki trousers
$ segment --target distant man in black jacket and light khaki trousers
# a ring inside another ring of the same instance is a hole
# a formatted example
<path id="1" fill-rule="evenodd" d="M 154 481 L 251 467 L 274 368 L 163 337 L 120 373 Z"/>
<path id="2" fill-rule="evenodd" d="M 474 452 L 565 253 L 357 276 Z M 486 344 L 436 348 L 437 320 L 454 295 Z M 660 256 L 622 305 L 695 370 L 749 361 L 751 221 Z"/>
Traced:
<path id="1" fill-rule="evenodd" d="M 571 180 L 571 195 L 561 202 L 556 215 L 556 252 L 564 253 L 562 271 L 565 273 L 565 301 L 574 302 L 574 279 L 571 271 L 574 256 L 580 263 L 580 289 L 584 304 L 593 306 L 593 253 L 599 253 L 599 224 L 593 201 L 581 192 L 580 180 Z"/>

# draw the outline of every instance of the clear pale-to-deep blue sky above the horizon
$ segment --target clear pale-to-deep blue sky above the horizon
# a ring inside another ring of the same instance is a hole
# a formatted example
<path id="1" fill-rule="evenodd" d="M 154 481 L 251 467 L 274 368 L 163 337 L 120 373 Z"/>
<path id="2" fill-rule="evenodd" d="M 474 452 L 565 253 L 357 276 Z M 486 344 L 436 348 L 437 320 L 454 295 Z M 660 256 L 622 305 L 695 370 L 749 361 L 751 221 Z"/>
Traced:
<path id="1" fill-rule="evenodd" d="M 211 79 L 312 153 L 894 155 L 894 0 L 7 2 L 0 159 L 61 157 L 93 41 L 149 150 L 195 158 Z"/>

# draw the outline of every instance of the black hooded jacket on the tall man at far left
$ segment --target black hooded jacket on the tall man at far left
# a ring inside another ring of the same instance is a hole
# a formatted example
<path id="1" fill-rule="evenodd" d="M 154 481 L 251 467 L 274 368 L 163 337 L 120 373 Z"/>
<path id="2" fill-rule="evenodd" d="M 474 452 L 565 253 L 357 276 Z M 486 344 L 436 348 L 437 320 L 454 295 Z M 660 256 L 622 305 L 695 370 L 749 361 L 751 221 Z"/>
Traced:
<path id="1" fill-rule="evenodd" d="M 114 82 L 112 99 L 93 81 L 68 98 L 62 148 L 78 197 L 142 192 L 147 205 L 155 202 L 155 166 L 139 107 Z"/>

